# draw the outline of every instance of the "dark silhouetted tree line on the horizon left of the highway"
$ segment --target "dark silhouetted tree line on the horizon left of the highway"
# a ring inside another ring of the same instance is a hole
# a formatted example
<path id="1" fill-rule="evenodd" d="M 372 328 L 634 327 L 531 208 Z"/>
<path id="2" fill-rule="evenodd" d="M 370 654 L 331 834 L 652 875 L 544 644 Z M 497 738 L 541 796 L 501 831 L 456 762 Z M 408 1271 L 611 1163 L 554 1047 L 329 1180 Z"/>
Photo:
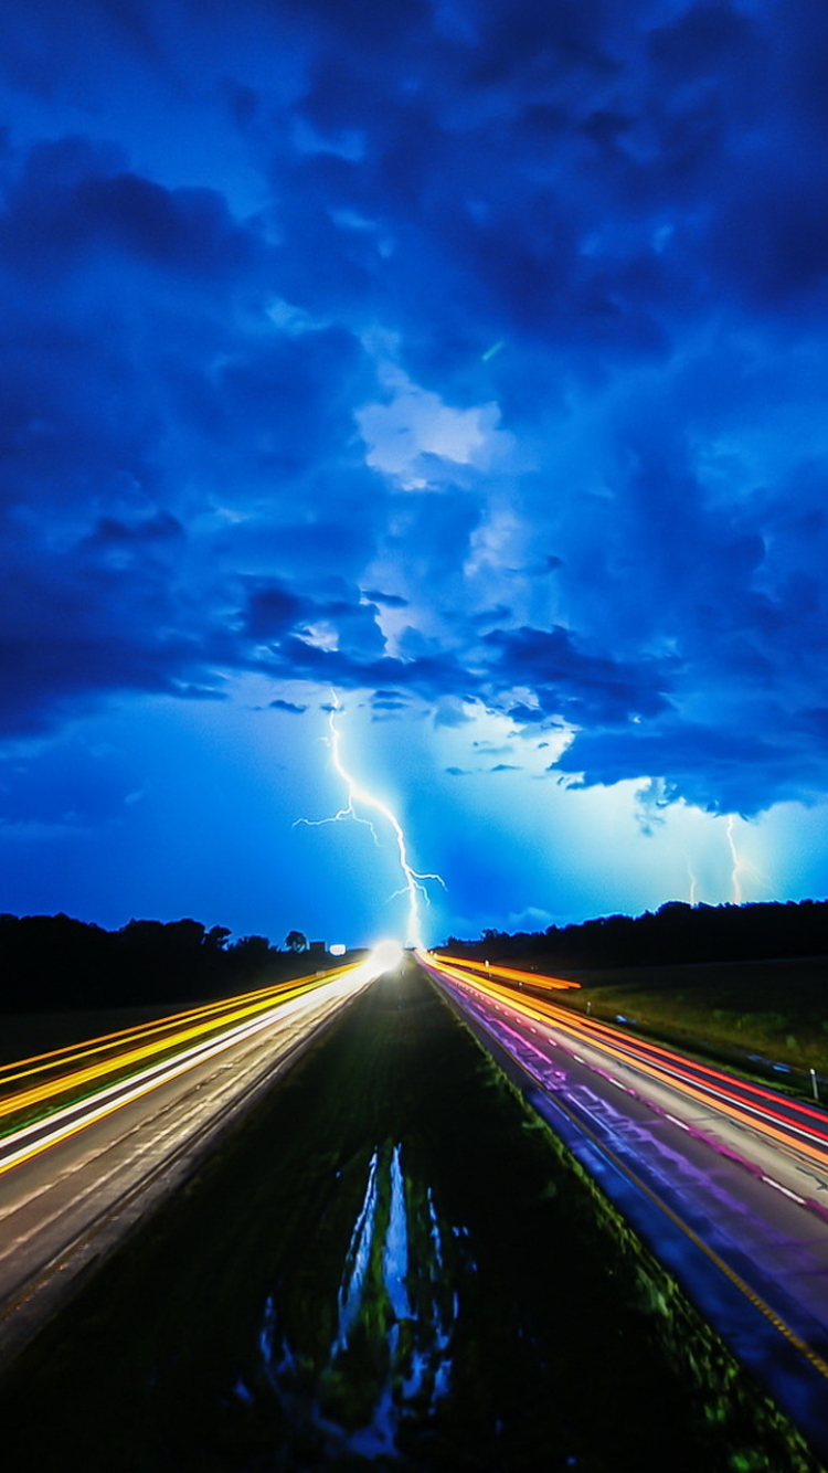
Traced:
<path id="1" fill-rule="evenodd" d="M 308 971 L 301 931 L 286 952 L 265 935 L 230 935 L 189 919 L 105 931 L 66 915 L 0 915 L 0 1013 L 200 1002 Z"/>

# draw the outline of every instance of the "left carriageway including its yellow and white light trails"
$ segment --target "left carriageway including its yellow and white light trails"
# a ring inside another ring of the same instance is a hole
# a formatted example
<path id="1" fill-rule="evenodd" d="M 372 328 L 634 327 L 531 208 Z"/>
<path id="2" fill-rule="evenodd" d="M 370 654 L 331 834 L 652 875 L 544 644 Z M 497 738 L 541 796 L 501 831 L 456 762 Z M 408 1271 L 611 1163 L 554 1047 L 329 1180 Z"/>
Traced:
<path id="1" fill-rule="evenodd" d="M 383 969 L 370 959 L 0 1069 L 0 1363 Z"/>

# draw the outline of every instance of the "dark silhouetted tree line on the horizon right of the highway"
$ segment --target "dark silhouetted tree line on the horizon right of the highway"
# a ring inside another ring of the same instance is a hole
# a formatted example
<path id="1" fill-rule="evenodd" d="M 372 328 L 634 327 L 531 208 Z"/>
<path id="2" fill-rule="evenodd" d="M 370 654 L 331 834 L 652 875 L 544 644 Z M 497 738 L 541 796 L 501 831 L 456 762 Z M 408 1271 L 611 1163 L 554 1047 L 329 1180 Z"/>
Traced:
<path id="1" fill-rule="evenodd" d="M 690 906 L 670 900 L 641 916 L 601 916 L 514 935 L 486 929 L 479 941 L 449 937 L 445 950 L 489 962 L 530 955 L 560 971 L 825 956 L 828 901 Z"/>

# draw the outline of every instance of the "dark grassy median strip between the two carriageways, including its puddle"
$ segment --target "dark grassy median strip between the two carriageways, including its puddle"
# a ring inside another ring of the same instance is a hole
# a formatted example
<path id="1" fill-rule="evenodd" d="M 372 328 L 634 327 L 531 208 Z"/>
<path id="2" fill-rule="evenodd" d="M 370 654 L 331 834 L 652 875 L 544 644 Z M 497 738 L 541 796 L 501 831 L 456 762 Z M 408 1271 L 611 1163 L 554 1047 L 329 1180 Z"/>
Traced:
<path id="1" fill-rule="evenodd" d="M 410 963 L 0 1383 L 16 1473 L 816 1470 Z"/>

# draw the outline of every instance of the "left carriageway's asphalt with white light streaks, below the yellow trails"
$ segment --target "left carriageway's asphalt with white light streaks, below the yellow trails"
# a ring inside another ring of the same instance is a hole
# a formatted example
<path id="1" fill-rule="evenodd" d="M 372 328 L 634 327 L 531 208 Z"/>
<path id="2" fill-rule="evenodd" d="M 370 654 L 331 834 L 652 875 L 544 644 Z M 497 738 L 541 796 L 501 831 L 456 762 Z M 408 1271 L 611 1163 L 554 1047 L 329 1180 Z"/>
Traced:
<path id="1" fill-rule="evenodd" d="M 0 1361 L 37 1333 L 370 980 L 367 968 L 336 974 L 127 1080 L 103 1080 L 80 1105 L 62 1103 L 0 1140 Z"/>

